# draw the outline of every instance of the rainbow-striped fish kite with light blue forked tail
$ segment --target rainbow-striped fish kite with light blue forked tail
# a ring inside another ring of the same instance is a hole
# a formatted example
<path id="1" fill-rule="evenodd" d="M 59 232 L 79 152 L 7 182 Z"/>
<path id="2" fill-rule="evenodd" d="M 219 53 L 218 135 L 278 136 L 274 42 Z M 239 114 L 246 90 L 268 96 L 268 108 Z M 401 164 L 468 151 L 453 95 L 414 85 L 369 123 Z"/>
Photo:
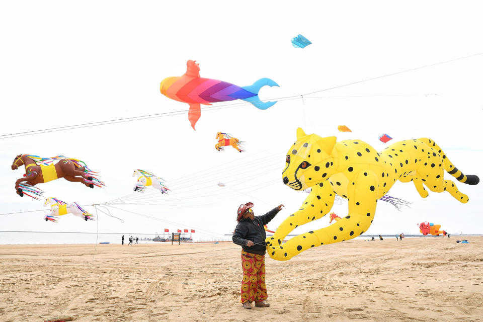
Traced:
<path id="1" fill-rule="evenodd" d="M 160 91 L 166 97 L 188 103 L 190 111 L 188 119 L 191 127 L 201 116 L 201 107 L 216 102 L 243 100 L 252 103 L 256 108 L 266 110 L 277 102 L 262 102 L 258 92 L 264 86 L 278 86 L 270 78 L 261 78 L 251 86 L 239 87 L 230 83 L 211 78 L 200 77 L 200 67 L 196 60 L 188 60 L 186 73 L 183 76 L 173 76 L 163 79 Z"/>

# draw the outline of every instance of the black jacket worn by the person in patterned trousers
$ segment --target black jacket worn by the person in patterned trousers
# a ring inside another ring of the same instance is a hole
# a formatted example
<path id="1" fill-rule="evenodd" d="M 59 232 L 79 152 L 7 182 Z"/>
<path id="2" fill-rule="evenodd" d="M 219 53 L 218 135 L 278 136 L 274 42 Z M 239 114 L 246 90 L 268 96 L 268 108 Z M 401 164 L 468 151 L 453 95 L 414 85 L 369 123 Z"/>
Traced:
<path id="1" fill-rule="evenodd" d="M 273 208 L 263 216 L 255 216 L 253 220 L 241 218 L 232 237 L 233 243 L 241 245 L 245 252 L 265 255 L 265 238 L 267 238 L 267 235 L 263 225 L 268 224 L 278 212 L 278 208 Z M 252 247 L 247 246 L 249 240 L 253 241 Z"/>

